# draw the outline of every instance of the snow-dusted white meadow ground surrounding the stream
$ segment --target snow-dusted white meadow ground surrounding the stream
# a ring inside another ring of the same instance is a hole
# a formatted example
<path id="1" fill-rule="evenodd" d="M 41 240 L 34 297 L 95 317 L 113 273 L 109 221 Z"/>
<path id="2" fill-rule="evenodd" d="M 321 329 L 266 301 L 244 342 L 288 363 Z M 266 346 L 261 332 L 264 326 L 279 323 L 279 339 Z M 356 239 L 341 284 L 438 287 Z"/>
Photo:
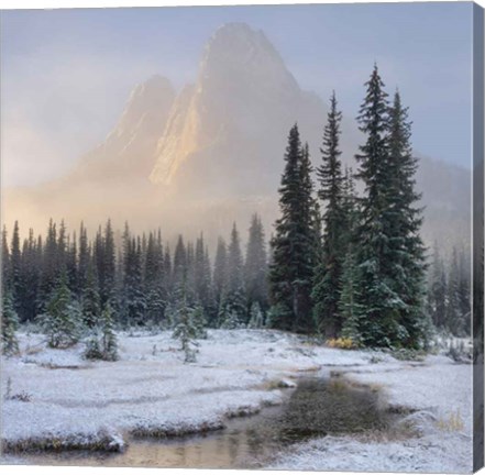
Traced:
<path id="1" fill-rule="evenodd" d="M 278 388 L 302 372 L 343 373 L 379 388 L 390 405 L 417 412 L 419 438 L 388 441 L 328 437 L 295 445 L 277 468 L 470 472 L 471 366 L 444 356 L 401 362 L 343 351 L 269 330 L 213 330 L 196 363 L 184 364 L 169 332 L 119 334 L 120 361 L 88 362 L 84 345 L 51 350 L 21 334 L 21 355 L 3 361 L 2 439 L 120 450 L 128 433 L 173 435 L 224 427 L 227 418 L 282 402 Z M 9 383 L 10 382 L 10 383 Z M 8 388 L 10 386 L 10 388 Z M 27 396 L 26 401 L 12 396 Z"/>

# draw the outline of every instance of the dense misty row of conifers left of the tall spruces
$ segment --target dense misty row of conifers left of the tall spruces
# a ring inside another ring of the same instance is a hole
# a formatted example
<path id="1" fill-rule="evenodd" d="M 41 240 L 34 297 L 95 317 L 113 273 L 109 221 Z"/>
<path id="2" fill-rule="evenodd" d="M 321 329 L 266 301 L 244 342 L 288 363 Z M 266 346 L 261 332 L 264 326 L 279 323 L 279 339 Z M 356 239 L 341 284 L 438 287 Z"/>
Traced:
<path id="1" fill-rule="evenodd" d="M 246 325 L 267 309 L 267 250 L 257 214 L 245 253 L 234 223 L 229 243 L 218 241 L 213 266 L 202 234 L 195 242 L 179 235 L 170 252 L 159 230 L 135 235 L 126 224 L 115 241 L 110 220 L 92 240 L 82 223 L 77 238 L 64 222 L 51 221 L 45 239 L 30 230 L 21 243 L 15 222 L 9 245 L 3 229 L 3 295 L 20 322 L 44 314 L 53 294 L 65 288 L 88 328 L 108 303 L 122 327 L 168 325 L 183 285 L 210 327 Z"/>

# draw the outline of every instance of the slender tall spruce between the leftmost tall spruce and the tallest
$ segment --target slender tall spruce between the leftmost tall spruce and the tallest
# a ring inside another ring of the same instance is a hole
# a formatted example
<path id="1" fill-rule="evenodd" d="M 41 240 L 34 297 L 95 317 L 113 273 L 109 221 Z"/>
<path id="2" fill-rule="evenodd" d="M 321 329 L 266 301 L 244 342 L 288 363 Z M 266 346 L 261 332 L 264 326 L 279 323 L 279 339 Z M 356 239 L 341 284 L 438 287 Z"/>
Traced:
<path id="1" fill-rule="evenodd" d="M 322 163 L 317 168 L 318 197 L 324 205 L 322 214 L 322 248 L 316 267 L 312 300 L 317 329 L 326 336 L 334 338 L 342 330 L 343 318 L 339 308 L 342 286 L 342 265 L 345 258 L 345 216 L 342 198 L 342 165 L 340 161 L 340 122 L 342 114 L 337 108 L 335 93 L 330 100 L 323 145 Z"/>

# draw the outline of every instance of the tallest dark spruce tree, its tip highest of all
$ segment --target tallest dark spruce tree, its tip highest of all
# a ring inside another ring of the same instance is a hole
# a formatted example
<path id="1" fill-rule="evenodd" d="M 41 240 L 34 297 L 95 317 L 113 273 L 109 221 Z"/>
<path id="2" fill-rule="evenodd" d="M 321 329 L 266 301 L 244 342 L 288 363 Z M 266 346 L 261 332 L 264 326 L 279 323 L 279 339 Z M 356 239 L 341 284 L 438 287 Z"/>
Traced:
<path id="1" fill-rule="evenodd" d="M 400 323 L 406 305 L 396 291 L 399 256 L 392 243 L 395 216 L 389 191 L 394 183 L 389 167 L 387 93 L 377 66 L 366 82 L 366 96 L 357 122 L 366 141 L 355 157 L 357 177 L 364 184 L 361 199 L 360 246 L 360 334 L 367 346 L 399 346 L 407 338 Z"/>

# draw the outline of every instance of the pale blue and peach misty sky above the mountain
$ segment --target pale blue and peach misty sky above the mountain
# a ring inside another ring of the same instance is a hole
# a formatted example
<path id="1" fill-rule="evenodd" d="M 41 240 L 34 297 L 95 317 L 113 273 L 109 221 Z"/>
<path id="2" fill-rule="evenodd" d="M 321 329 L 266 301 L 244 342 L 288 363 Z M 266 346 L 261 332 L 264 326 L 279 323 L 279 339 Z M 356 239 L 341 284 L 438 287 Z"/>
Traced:
<path id="1" fill-rule="evenodd" d="M 4 185 L 65 174 L 153 74 L 195 79 L 222 23 L 262 29 L 304 89 L 355 117 L 374 60 L 398 85 L 415 148 L 470 166 L 471 3 L 51 10 L 2 13 Z M 322 125 L 324 118 L 322 118 Z"/>

